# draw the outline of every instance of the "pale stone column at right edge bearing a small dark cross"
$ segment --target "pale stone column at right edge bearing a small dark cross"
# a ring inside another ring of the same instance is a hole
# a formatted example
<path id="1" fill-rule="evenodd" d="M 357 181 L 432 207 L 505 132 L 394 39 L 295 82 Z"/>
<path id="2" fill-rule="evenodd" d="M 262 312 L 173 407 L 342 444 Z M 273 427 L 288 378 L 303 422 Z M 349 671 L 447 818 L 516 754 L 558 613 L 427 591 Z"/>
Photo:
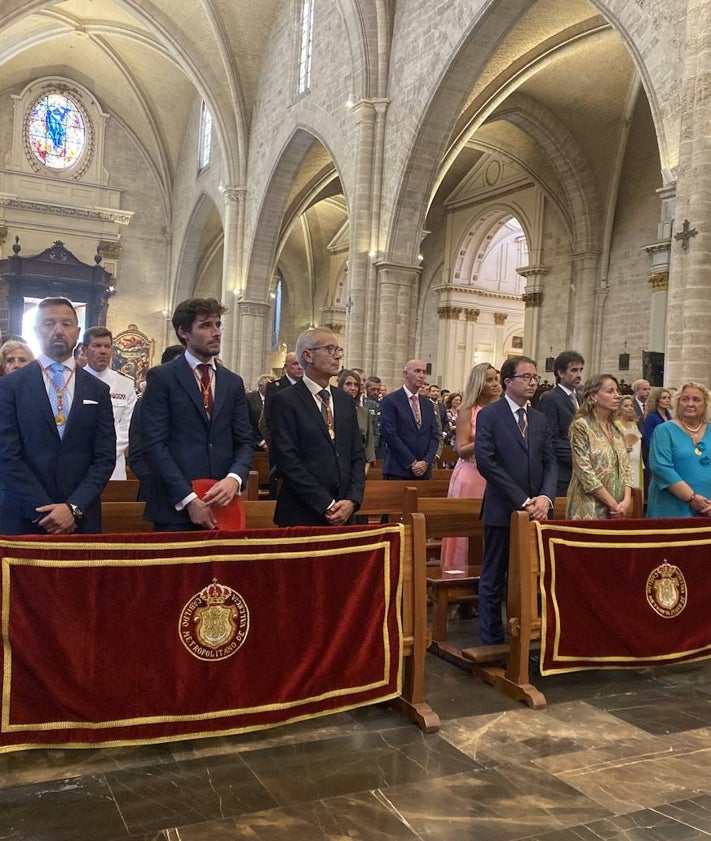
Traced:
<path id="1" fill-rule="evenodd" d="M 711 5 L 706 0 L 688 0 L 685 5 L 676 233 L 669 270 L 664 375 L 672 386 L 690 379 L 708 382 L 711 345 Z"/>

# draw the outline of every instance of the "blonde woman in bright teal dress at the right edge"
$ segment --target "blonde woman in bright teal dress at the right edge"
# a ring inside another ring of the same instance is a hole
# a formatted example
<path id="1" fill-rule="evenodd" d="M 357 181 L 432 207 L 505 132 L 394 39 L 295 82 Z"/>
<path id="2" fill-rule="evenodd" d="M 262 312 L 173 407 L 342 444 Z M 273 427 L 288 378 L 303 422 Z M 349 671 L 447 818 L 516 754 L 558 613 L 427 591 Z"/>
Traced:
<path id="1" fill-rule="evenodd" d="M 711 517 L 710 397 L 705 385 L 686 383 L 678 392 L 674 419 L 655 429 L 648 517 Z"/>

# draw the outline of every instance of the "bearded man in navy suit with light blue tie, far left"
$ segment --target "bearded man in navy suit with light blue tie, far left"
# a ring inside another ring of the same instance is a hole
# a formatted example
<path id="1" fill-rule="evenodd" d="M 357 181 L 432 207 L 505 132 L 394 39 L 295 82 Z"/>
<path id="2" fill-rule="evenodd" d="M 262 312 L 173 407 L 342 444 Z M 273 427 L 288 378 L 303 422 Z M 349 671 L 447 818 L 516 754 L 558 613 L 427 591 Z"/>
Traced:
<path id="1" fill-rule="evenodd" d="M 100 497 L 116 463 L 109 387 L 76 365 L 77 314 L 37 307 L 38 358 L 0 380 L 3 534 L 101 531 Z"/>

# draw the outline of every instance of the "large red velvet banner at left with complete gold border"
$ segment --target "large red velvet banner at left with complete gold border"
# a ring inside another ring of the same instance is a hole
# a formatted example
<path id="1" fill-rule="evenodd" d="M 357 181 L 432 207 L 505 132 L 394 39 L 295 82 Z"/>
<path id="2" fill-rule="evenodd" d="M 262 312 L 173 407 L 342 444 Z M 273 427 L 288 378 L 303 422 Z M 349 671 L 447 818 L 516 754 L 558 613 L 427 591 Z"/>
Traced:
<path id="1" fill-rule="evenodd" d="M 0 541 L 0 752 L 235 733 L 400 692 L 401 526 Z"/>

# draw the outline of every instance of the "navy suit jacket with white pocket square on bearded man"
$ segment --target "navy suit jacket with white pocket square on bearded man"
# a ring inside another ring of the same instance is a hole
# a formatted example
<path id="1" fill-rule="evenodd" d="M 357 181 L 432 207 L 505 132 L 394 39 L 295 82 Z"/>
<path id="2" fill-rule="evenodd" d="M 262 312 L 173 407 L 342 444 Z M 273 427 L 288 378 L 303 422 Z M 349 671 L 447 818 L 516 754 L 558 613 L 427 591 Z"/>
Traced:
<path id="1" fill-rule="evenodd" d="M 101 531 L 101 492 L 116 464 L 109 387 L 77 366 L 62 438 L 38 362 L 0 379 L 0 479 L 4 534 L 45 534 L 33 520 L 41 505 L 77 505 L 77 531 Z"/>

